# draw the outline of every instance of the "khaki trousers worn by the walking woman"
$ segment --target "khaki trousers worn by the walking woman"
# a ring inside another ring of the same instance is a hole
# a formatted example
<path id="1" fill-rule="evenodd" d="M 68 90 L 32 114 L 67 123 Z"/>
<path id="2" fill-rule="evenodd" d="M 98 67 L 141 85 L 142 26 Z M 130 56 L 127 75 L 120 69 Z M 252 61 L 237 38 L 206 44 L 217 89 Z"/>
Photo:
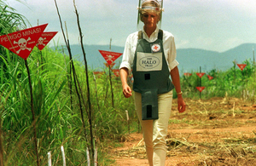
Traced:
<path id="1" fill-rule="evenodd" d="M 157 120 L 142 120 L 142 94 L 137 92 L 135 92 L 135 105 L 137 117 L 142 125 L 148 163 L 150 166 L 165 166 L 166 135 L 172 111 L 172 91 L 158 94 L 159 119 Z"/>

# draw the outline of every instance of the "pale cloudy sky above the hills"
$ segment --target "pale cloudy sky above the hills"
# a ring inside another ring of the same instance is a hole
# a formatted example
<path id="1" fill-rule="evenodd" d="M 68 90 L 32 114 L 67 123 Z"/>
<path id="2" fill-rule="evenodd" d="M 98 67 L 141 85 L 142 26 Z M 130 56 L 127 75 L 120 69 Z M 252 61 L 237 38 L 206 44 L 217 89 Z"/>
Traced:
<path id="1" fill-rule="evenodd" d="M 45 31 L 59 31 L 56 44 L 65 44 L 55 0 L 7 0 L 31 26 L 48 23 Z M 56 0 L 71 44 L 79 44 L 73 0 Z M 138 0 L 75 0 L 84 44 L 125 46 L 137 31 Z M 256 43 L 255 0 L 165 0 L 161 29 L 175 37 L 177 49 L 224 52 L 242 43 Z M 49 43 L 53 45 L 53 41 Z M 253 48 L 252 48 L 253 49 Z"/>

